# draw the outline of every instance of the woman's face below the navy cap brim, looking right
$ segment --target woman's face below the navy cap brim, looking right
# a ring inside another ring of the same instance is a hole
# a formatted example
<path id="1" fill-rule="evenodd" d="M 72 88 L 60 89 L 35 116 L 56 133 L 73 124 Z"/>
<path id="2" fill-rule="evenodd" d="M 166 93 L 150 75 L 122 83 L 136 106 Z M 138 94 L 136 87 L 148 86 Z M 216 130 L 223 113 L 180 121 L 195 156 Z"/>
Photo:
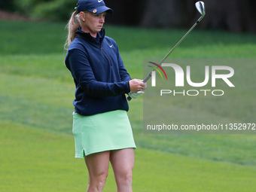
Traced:
<path id="1" fill-rule="evenodd" d="M 89 11 L 81 12 L 80 17 L 82 20 L 82 30 L 84 32 L 90 32 L 94 38 L 97 36 L 97 32 L 100 32 L 103 24 L 105 23 L 106 12 L 102 14 L 93 14 Z"/>

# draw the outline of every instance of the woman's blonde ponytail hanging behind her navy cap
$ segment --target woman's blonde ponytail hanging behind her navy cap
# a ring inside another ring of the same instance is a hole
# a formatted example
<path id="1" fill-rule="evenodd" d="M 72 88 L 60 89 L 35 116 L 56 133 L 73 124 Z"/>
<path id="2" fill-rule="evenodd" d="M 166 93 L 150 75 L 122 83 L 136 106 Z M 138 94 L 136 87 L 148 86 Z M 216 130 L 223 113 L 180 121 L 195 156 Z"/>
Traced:
<path id="1" fill-rule="evenodd" d="M 81 19 L 78 14 L 78 11 L 74 11 L 72 16 L 69 19 L 69 23 L 66 25 L 66 29 L 69 30 L 68 38 L 66 39 L 66 43 L 64 45 L 64 48 L 68 50 L 69 44 L 74 40 L 75 38 L 75 32 L 76 30 L 81 27 Z"/>

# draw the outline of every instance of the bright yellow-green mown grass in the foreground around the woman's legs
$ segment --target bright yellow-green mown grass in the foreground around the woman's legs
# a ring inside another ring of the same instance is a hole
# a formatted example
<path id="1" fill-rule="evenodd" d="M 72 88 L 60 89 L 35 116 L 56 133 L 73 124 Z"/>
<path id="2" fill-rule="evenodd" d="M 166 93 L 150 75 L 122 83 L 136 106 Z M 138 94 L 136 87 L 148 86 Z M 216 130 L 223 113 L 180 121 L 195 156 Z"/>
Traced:
<path id="1" fill-rule="evenodd" d="M 70 135 L 0 123 L 1 191 L 84 191 L 84 160 L 75 160 Z M 135 191 L 253 191 L 254 166 L 136 149 Z M 105 191 L 114 191 L 110 170 Z"/>

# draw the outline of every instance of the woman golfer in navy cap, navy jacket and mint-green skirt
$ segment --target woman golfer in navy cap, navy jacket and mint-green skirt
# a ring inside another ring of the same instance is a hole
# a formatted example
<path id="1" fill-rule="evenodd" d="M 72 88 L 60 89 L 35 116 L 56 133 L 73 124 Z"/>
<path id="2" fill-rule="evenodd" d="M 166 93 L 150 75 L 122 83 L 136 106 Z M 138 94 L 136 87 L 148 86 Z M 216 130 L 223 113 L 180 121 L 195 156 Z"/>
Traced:
<path id="1" fill-rule="evenodd" d="M 133 99 L 145 90 L 131 79 L 116 42 L 102 29 L 111 8 L 102 0 L 79 0 L 69 20 L 66 67 L 75 81 L 73 134 L 75 157 L 84 158 L 89 172 L 87 191 L 102 191 L 109 161 L 117 191 L 132 191 L 136 145 L 125 93 Z"/>

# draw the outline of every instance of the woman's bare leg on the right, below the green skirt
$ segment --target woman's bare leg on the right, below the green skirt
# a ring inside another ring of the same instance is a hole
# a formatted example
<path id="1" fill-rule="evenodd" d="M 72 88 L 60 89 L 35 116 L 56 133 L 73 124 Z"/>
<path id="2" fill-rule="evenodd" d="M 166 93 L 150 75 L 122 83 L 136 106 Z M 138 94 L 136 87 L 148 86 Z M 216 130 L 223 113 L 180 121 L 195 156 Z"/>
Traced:
<path id="1" fill-rule="evenodd" d="M 117 183 L 117 192 L 132 192 L 134 149 L 125 148 L 110 152 L 110 161 Z"/>

